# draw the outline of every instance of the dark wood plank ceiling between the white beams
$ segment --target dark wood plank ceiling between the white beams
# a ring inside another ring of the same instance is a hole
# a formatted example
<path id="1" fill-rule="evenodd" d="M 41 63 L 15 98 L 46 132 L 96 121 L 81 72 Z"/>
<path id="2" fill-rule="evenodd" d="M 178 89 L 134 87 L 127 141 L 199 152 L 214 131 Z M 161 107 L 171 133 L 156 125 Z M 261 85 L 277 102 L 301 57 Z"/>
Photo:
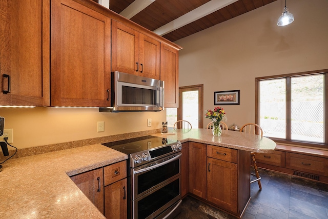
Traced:
<path id="1" fill-rule="evenodd" d="M 93 1 L 98 2 L 97 0 Z M 110 0 L 109 9 L 116 13 L 121 13 L 134 1 L 135 0 Z M 162 36 L 174 42 L 275 1 L 277 0 L 231 1 L 233 2 L 232 4 L 203 16 L 185 26 L 165 33 Z M 208 2 L 211 2 L 211 0 L 156 0 L 131 17 L 130 20 L 154 31 Z"/>

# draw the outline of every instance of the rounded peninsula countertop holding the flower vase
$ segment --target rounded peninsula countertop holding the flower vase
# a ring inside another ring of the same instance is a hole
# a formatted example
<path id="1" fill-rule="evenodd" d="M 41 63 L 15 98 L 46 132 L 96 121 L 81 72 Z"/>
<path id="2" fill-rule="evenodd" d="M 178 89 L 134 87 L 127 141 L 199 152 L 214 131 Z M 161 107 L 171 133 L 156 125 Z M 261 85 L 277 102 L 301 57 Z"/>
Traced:
<path id="1" fill-rule="evenodd" d="M 222 130 L 221 136 L 213 136 L 212 129 L 170 129 L 173 134 L 152 134 L 183 142 L 198 142 L 209 145 L 234 148 L 244 151 L 270 153 L 276 148 L 276 143 L 267 137 L 239 131 Z"/>

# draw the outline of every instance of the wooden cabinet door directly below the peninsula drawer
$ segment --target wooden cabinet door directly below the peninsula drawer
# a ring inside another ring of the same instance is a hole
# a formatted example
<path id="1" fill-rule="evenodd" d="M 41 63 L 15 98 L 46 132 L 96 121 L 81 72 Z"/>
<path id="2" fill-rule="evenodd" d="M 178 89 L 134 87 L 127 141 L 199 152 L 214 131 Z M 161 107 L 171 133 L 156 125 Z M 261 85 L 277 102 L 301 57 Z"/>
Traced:
<path id="1" fill-rule="evenodd" d="M 207 197 L 218 207 L 237 212 L 237 164 L 207 158 Z"/>

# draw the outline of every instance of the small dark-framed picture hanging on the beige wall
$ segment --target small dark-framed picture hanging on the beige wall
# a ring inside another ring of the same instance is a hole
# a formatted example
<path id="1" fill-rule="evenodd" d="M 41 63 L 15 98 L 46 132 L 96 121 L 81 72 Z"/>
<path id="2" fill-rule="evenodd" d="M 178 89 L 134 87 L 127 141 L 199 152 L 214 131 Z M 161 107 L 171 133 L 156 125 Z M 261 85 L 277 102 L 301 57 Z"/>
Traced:
<path id="1" fill-rule="evenodd" d="M 215 91 L 214 105 L 239 105 L 240 90 Z"/>

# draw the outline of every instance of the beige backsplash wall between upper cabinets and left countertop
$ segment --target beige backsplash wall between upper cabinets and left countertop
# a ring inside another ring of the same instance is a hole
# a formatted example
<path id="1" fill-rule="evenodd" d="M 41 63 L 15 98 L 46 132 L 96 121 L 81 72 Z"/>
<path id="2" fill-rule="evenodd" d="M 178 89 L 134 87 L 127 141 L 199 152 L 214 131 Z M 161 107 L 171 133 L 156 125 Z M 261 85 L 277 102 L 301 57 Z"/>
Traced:
<path id="1" fill-rule="evenodd" d="M 159 129 L 166 120 L 166 111 L 106 113 L 98 108 L 0 108 L 0 115 L 5 129 L 13 129 L 17 148 Z M 147 118 L 152 118 L 151 127 Z M 105 132 L 97 132 L 98 121 L 105 122 Z"/>

